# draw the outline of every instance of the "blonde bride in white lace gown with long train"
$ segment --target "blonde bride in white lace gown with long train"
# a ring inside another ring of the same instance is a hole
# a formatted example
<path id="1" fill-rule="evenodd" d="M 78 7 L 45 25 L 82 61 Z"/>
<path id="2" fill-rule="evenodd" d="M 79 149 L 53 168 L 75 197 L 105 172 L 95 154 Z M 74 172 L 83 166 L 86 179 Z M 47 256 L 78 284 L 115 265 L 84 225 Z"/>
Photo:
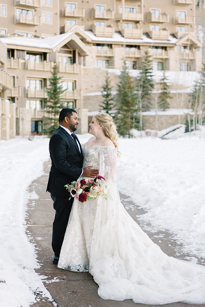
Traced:
<path id="1" fill-rule="evenodd" d="M 89 271 L 103 299 L 133 299 L 144 304 L 205 303 L 205 266 L 168 257 L 121 204 L 116 185 L 120 152 L 112 117 L 98 113 L 89 126 L 93 137 L 83 147 L 83 168 L 93 165 L 99 169 L 108 197 L 83 204 L 74 199 L 58 267 Z"/>

